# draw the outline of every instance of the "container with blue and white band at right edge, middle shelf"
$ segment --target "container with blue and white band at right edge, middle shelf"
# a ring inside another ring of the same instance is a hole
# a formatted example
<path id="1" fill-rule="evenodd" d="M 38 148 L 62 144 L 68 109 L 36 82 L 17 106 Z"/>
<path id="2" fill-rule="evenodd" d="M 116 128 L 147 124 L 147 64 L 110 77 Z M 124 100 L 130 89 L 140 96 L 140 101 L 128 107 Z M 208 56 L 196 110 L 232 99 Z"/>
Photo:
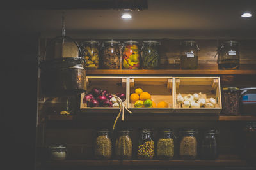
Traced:
<path id="1" fill-rule="evenodd" d="M 241 90 L 241 114 L 256 115 L 256 87 Z"/>

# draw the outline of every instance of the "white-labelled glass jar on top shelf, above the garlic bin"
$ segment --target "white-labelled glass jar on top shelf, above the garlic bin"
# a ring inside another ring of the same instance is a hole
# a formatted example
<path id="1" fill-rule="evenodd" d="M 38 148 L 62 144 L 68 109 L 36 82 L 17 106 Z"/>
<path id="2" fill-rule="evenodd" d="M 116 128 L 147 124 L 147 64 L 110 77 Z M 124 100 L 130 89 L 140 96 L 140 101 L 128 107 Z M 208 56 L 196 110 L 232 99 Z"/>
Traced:
<path id="1" fill-rule="evenodd" d="M 199 47 L 196 44 L 196 41 L 184 41 L 181 45 L 181 69 L 197 69 Z"/>

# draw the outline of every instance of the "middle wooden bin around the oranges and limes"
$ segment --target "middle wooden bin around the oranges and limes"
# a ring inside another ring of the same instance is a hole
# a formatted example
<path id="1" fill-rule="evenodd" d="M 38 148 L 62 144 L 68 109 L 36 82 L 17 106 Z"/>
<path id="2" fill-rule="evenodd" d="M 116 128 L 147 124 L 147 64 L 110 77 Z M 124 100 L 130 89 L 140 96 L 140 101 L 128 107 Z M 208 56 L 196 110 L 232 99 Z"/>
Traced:
<path id="1" fill-rule="evenodd" d="M 128 108 L 132 113 L 173 112 L 174 96 L 172 77 L 129 77 L 128 84 L 127 101 L 129 102 Z M 168 108 L 135 108 L 134 104 L 130 103 L 130 95 L 135 92 L 136 88 L 141 88 L 143 92 L 148 92 L 156 105 L 160 101 L 166 101 Z"/>

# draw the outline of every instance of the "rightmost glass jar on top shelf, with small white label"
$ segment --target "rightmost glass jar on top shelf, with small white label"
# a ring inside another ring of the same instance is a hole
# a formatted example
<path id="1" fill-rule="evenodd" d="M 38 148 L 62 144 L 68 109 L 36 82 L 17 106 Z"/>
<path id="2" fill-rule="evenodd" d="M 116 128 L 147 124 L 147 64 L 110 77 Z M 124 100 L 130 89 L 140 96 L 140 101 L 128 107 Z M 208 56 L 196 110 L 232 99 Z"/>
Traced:
<path id="1" fill-rule="evenodd" d="M 238 69 L 239 62 L 239 43 L 237 41 L 225 41 L 218 49 L 219 69 Z"/>

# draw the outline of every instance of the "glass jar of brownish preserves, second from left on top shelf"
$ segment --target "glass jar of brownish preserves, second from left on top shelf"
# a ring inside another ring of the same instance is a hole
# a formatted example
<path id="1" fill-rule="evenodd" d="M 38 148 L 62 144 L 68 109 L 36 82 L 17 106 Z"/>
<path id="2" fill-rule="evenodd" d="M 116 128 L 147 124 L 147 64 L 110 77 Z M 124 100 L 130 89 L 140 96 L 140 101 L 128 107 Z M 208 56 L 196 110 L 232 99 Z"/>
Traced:
<path id="1" fill-rule="evenodd" d="M 102 45 L 102 68 L 120 69 L 120 42 L 105 41 Z"/>

